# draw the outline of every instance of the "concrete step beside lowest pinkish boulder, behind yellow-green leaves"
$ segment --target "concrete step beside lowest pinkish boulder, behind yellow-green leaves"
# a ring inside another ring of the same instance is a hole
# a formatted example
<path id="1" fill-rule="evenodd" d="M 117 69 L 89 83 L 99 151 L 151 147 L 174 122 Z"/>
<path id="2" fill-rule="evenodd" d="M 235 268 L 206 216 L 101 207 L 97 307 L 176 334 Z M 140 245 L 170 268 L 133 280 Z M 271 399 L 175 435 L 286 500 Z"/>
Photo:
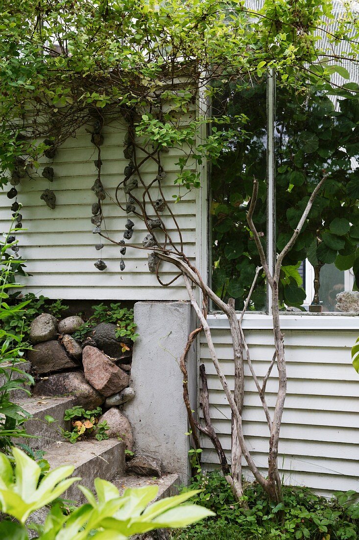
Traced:
<path id="1" fill-rule="evenodd" d="M 94 491 L 95 478 L 113 481 L 125 472 L 125 448 L 122 442 L 113 438 L 107 441 L 87 439 L 74 444 L 59 441 L 47 448 L 45 459 L 49 461 L 51 469 L 60 465 L 74 465 L 73 476 L 80 476 L 80 483 L 91 491 Z M 76 483 L 61 497 L 79 503 L 85 501 Z"/>

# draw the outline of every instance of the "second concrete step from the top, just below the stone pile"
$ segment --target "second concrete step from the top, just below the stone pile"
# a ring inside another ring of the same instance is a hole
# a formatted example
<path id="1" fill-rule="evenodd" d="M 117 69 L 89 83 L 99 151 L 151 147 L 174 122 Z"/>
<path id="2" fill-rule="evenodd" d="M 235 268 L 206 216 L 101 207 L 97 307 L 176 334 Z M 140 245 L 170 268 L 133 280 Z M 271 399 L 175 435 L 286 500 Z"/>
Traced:
<path id="1" fill-rule="evenodd" d="M 36 435 L 38 438 L 22 438 L 19 442 L 24 442 L 33 450 L 46 449 L 54 442 L 61 440 L 58 426 L 63 429 L 70 429 L 70 421 L 64 421 L 66 409 L 71 409 L 71 397 L 27 397 L 17 400 L 23 409 L 32 415 L 30 420 L 26 420 L 24 428 L 29 435 Z M 45 416 L 52 416 L 57 422 L 49 424 Z"/>

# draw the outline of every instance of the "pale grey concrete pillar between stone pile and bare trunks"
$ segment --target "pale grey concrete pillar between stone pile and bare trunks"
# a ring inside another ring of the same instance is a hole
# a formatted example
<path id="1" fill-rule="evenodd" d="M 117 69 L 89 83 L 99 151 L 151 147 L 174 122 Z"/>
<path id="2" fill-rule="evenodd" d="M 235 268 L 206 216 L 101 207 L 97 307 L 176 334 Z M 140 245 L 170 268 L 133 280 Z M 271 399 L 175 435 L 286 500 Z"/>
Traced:
<path id="1" fill-rule="evenodd" d="M 189 302 L 137 302 L 134 308 L 137 339 L 133 350 L 132 386 L 135 398 L 126 404 L 138 454 L 161 460 L 165 472 L 190 477 L 187 410 L 179 359 L 194 328 Z M 196 409 L 197 359 L 188 355 L 189 393 Z"/>

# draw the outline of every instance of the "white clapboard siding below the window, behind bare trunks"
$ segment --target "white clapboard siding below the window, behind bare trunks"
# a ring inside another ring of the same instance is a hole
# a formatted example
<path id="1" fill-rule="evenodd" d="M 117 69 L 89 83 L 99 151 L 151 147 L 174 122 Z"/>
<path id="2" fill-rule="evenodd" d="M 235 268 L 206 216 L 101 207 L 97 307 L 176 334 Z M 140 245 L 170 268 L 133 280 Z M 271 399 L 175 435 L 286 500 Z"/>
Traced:
<path id="1" fill-rule="evenodd" d="M 211 322 L 211 316 L 209 317 Z M 286 483 L 307 485 L 329 495 L 333 491 L 359 491 L 359 377 L 351 365 L 350 348 L 359 333 L 353 330 L 285 330 L 288 390 L 281 428 L 279 466 Z M 234 387 L 231 334 L 212 329 L 218 359 L 231 390 Z M 260 377 L 273 355 L 269 329 L 246 330 L 253 367 Z M 230 461 L 231 411 L 212 365 L 205 337 L 201 362 L 208 375 L 211 417 Z M 273 368 L 267 383 L 271 413 L 278 388 Z M 266 475 L 268 427 L 256 386 L 245 364 L 244 434 L 252 456 Z M 203 438 L 203 460 L 218 467 L 211 442 Z M 244 465 L 245 462 L 244 462 Z M 249 473 L 245 468 L 246 474 Z"/>

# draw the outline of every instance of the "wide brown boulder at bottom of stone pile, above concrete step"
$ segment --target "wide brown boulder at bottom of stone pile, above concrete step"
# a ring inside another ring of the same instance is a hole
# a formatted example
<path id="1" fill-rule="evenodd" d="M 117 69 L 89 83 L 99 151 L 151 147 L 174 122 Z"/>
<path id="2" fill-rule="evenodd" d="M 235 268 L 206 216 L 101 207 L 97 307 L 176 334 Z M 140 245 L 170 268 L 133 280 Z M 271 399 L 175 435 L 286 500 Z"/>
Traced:
<path id="1" fill-rule="evenodd" d="M 36 396 L 72 396 L 73 404 L 85 409 L 95 409 L 105 401 L 80 371 L 55 373 L 40 379 L 33 389 Z"/>

